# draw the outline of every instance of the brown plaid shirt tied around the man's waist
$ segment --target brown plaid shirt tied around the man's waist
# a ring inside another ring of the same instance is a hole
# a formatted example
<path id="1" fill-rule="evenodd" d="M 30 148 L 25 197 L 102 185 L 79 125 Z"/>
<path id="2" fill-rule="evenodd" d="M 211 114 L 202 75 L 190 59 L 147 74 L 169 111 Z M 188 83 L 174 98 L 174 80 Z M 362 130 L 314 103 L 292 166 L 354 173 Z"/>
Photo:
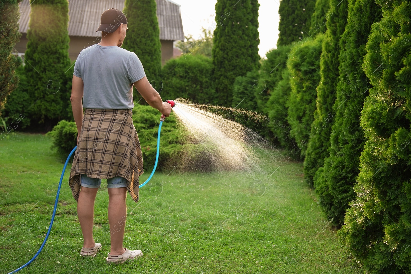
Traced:
<path id="1" fill-rule="evenodd" d="M 85 110 L 69 177 L 76 201 L 79 201 L 81 188 L 80 174 L 99 179 L 124 177 L 127 190 L 137 203 L 143 155 L 131 109 Z"/>

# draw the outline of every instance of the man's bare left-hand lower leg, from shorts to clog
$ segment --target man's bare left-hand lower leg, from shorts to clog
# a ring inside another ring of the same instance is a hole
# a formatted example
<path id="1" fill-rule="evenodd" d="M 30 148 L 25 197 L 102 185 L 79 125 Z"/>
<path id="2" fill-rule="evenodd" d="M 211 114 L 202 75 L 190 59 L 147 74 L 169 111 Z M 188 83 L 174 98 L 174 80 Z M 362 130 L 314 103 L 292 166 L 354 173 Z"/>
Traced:
<path id="1" fill-rule="evenodd" d="M 93 217 L 94 201 L 98 188 L 81 187 L 79 202 L 77 203 L 77 216 L 79 216 L 81 231 L 83 232 L 83 247 L 94 247 L 93 239 Z"/>

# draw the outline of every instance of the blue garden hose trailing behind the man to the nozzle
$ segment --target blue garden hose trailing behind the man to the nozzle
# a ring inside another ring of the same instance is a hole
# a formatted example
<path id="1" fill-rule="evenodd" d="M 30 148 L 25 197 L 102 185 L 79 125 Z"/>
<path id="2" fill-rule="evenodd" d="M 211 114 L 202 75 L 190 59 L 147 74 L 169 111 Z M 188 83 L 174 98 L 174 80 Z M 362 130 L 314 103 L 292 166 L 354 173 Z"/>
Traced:
<path id="1" fill-rule="evenodd" d="M 159 151 L 160 151 L 160 131 L 161 131 L 161 125 L 162 125 L 162 124 L 163 124 L 163 121 L 160 120 L 160 124 L 159 124 L 159 126 L 158 126 L 158 134 L 157 134 L 157 155 L 156 155 L 156 157 L 155 157 L 155 164 L 154 164 L 153 171 L 151 172 L 150 177 L 148 177 L 148 179 L 147 179 L 143 184 L 140 184 L 140 185 L 139 185 L 139 188 L 140 188 L 140 187 L 143 187 L 145 184 L 148 183 L 148 181 L 150 181 L 151 177 L 153 177 L 153 175 L 154 175 L 155 169 L 157 168 L 158 156 L 159 156 Z M 70 157 L 72 157 L 72 154 L 74 153 L 74 151 L 76 151 L 76 148 L 77 148 L 77 146 L 75 146 L 75 147 L 73 148 L 72 152 L 70 152 L 70 154 L 69 154 L 69 156 L 67 157 L 67 160 L 66 160 L 66 162 L 65 162 L 65 164 L 64 164 L 64 168 L 63 168 L 63 171 L 62 171 L 61 176 L 60 176 L 60 182 L 58 183 L 57 196 L 55 196 L 53 216 L 51 216 L 50 226 L 48 227 L 47 234 L 46 234 L 46 238 L 44 238 L 44 241 L 43 241 L 42 246 L 40 246 L 39 251 L 37 251 L 36 255 L 33 256 L 33 258 L 31 258 L 31 260 L 29 260 L 28 262 L 26 262 L 23 266 L 19 267 L 18 269 L 10 272 L 9 274 L 15 273 L 15 272 L 23 269 L 24 267 L 30 265 L 30 263 L 31 263 L 32 261 L 34 261 L 35 258 L 37 258 L 37 256 L 39 255 L 39 253 L 42 251 L 44 245 L 46 244 L 46 241 L 47 241 L 47 239 L 48 239 L 48 235 L 50 235 L 51 227 L 53 226 L 55 211 L 56 211 L 56 209 L 57 209 L 58 196 L 60 195 L 60 187 L 61 187 L 61 183 L 62 183 L 62 181 L 63 181 L 63 177 L 64 177 L 64 174 L 65 174 L 65 171 L 66 171 L 67 163 L 69 163 L 69 159 L 70 159 Z"/>

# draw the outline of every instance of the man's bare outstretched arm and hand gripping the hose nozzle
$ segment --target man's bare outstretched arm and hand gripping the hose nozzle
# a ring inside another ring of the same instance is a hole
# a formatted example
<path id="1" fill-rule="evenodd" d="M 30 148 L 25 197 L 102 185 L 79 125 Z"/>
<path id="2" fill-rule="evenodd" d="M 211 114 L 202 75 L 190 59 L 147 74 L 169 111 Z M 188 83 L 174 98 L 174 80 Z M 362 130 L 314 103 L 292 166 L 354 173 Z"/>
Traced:
<path id="1" fill-rule="evenodd" d="M 154 87 L 152 87 L 152 85 L 150 85 L 147 77 L 144 76 L 139 81 L 135 82 L 134 86 L 150 106 L 157 109 L 166 117 L 169 117 L 171 113 L 171 105 L 162 101 L 160 94 L 154 89 Z"/>

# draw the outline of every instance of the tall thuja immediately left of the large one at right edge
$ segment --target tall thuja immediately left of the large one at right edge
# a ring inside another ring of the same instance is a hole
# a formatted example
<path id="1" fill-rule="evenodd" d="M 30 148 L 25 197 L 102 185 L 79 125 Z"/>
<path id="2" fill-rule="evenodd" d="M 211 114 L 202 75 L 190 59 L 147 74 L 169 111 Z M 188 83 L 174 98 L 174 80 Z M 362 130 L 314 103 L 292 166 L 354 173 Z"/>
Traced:
<path id="1" fill-rule="evenodd" d="M 374 0 L 349 1 L 347 25 L 339 41 L 340 76 L 333 106 L 336 114 L 330 134 L 330 156 L 315 180 L 319 204 L 337 227 L 343 225 L 349 202 L 356 196 L 353 185 L 365 142 L 360 114 L 371 88 L 361 66 L 371 25 L 380 19 L 381 7 Z"/>

